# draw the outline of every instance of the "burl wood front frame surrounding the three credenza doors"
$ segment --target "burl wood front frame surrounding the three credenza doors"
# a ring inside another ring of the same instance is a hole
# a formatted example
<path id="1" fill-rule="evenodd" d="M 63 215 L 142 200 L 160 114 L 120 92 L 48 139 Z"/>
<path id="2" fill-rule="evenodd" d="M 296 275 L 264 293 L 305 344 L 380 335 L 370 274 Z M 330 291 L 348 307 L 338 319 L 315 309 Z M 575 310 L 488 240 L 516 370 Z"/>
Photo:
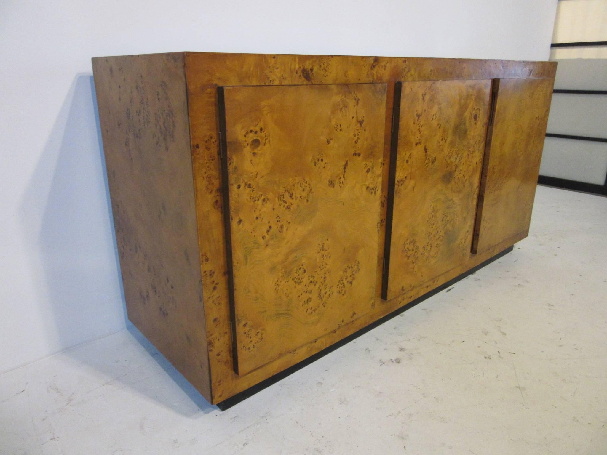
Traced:
<path id="1" fill-rule="evenodd" d="M 192 52 L 185 53 L 185 62 L 198 241 L 211 362 L 212 402 L 220 402 L 311 356 L 525 237 L 519 234 L 481 254 L 471 255 L 464 265 L 389 301 L 381 299 L 379 295 L 381 288 L 378 285 L 375 308 L 364 317 L 329 332 L 313 343 L 294 349 L 249 374 L 238 376 L 232 369 L 225 235 L 222 222 L 222 180 L 217 139 L 217 86 L 387 83 L 386 118 L 389 119 L 392 116 L 392 93 L 395 81 L 521 77 L 554 79 L 556 63 Z M 385 127 L 385 137 L 390 137 L 388 122 Z M 384 163 L 388 162 L 389 157 L 389 141 L 385 141 Z M 380 223 L 385 220 L 388 166 L 383 166 L 382 169 L 384 177 Z M 383 229 L 380 231 L 379 238 L 379 249 L 383 251 Z M 382 259 L 382 255 L 378 255 L 379 263 Z M 378 271 L 378 283 L 381 283 L 381 268 L 378 268 Z"/>

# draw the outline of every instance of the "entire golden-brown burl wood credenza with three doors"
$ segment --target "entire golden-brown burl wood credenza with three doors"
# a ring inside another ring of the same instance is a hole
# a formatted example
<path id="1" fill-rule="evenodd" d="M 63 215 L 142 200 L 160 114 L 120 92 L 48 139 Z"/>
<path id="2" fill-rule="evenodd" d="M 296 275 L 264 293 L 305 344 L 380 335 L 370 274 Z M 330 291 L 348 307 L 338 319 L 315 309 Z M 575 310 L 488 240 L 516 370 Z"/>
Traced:
<path id="1" fill-rule="evenodd" d="M 511 249 L 555 70 L 93 58 L 129 319 L 225 404 Z"/>

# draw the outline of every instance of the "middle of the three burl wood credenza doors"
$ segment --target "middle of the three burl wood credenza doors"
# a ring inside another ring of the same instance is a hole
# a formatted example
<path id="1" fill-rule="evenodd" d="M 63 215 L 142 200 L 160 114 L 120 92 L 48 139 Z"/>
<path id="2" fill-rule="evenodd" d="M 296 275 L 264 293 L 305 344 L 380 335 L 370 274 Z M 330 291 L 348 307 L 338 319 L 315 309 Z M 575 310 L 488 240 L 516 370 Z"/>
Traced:
<path id="1" fill-rule="evenodd" d="M 490 79 L 400 85 L 384 251 L 387 300 L 470 257 L 491 92 Z"/>

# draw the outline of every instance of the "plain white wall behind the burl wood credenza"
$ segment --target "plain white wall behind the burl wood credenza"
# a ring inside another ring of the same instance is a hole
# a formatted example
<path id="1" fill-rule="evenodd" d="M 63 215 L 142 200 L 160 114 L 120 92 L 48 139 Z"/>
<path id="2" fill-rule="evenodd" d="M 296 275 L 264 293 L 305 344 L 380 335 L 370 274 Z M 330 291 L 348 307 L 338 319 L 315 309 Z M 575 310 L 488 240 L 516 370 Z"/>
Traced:
<path id="1" fill-rule="evenodd" d="M 554 0 L 0 2 L 0 372 L 125 326 L 90 58 L 547 59 Z"/>

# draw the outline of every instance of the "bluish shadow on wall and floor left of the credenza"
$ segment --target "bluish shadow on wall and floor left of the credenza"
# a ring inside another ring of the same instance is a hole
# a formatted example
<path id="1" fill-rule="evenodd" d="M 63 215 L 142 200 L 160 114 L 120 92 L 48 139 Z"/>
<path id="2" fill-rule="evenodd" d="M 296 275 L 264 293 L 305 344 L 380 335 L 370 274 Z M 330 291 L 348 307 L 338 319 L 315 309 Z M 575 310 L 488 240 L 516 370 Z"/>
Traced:
<path id="1" fill-rule="evenodd" d="M 124 374 L 123 362 L 114 359 L 126 355 L 120 349 L 95 353 L 95 345 L 66 354 L 177 413 L 209 412 L 215 406 L 127 322 L 106 176 L 93 76 L 78 74 L 22 199 L 29 259 L 46 285 L 37 296 L 43 336 L 56 352 L 127 325 L 131 341 L 146 351 L 137 355 L 154 359 L 165 376 Z"/>

